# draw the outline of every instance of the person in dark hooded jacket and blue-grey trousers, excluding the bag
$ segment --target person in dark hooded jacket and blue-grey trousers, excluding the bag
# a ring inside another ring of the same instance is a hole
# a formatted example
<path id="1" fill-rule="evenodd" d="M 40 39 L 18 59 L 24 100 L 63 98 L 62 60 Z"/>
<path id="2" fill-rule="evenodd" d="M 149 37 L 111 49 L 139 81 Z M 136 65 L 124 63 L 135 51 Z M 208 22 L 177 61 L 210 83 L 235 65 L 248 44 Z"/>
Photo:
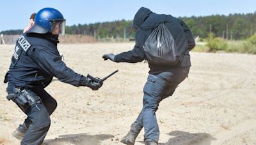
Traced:
<path id="1" fill-rule="evenodd" d="M 175 39 L 177 48 L 185 47 L 186 52 L 184 52 L 180 62 L 175 65 L 148 63 L 150 71 L 148 72 L 147 83 L 143 88 L 143 109 L 136 121 L 132 123 L 129 133 L 121 140 L 124 144 L 134 144 L 143 127 L 145 129 L 145 144 L 158 144 L 159 127 L 155 113 L 159 102 L 172 96 L 175 88 L 188 76 L 191 66 L 189 51 L 195 47 L 195 40 L 188 25 L 182 20 L 172 17 L 172 15 L 152 13 L 152 11 L 142 7 L 133 20 L 133 30 L 136 31 L 134 48 L 118 55 L 113 53 L 103 55 L 104 60 L 110 59 L 113 62 L 136 63 L 145 60 L 143 45 L 151 32 L 163 22 Z"/>

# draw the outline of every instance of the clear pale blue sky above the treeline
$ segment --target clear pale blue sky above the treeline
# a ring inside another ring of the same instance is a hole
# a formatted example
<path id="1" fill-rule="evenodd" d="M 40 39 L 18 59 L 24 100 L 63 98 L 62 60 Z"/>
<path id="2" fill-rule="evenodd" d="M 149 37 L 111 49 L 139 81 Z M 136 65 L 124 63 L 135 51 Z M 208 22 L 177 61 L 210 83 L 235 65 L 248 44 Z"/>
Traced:
<path id="1" fill-rule="evenodd" d="M 173 17 L 198 17 L 254 13 L 256 0 L 6 0 L 0 4 L 0 32 L 24 29 L 31 13 L 46 7 L 59 10 L 70 26 L 132 20 L 141 6 Z"/>

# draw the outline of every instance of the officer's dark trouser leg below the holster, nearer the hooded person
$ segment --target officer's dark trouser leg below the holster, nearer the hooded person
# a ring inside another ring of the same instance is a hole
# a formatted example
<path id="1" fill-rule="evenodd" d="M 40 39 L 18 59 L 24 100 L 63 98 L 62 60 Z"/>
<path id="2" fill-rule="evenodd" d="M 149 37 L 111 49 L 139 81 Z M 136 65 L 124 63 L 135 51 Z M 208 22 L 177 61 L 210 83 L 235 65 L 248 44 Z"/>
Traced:
<path id="1" fill-rule="evenodd" d="M 42 144 L 45 135 L 51 125 L 50 115 L 57 107 L 55 99 L 49 93 L 42 90 L 36 93 L 42 103 L 35 104 L 26 110 L 27 118 L 24 121 L 28 130 L 23 137 L 21 144 Z"/>

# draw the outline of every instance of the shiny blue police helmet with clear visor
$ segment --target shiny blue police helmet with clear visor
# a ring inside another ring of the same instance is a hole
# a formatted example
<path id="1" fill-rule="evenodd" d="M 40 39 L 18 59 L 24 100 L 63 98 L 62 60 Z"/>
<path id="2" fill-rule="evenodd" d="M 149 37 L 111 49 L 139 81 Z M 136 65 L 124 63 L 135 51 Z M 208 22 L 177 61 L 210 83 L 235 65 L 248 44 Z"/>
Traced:
<path id="1" fill-rule="evenodd" d="M 36 13 L 35 24 L 28 32 L 65 34 L 65 21 L 60 11 L 54 8 L 43 8 Z"/>

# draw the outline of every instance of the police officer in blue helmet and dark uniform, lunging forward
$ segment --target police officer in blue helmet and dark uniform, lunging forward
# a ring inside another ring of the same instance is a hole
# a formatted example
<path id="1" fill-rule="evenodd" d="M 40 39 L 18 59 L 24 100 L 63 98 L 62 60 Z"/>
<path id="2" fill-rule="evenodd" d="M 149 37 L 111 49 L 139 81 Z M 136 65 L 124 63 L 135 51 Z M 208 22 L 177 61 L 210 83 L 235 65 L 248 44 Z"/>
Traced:
<path id="1" fill-rule="evenodd" d="M 35 17 L 35 25 L 22 34 L 13 52 L 8 81 L 8 99 L 12 99 L 28 116 L 13 136 L 21 144 L 42 144 L 49 130 L 50 115 L 56 100 L 44 88 L 56 77 L 74 86 L 88 86 L 98 90 L 100 79 L 77 74 L 61 60 L 57 49 L 58 35 L 65 34 L 65 19 L 60 11 L 44 8 Z"/>

